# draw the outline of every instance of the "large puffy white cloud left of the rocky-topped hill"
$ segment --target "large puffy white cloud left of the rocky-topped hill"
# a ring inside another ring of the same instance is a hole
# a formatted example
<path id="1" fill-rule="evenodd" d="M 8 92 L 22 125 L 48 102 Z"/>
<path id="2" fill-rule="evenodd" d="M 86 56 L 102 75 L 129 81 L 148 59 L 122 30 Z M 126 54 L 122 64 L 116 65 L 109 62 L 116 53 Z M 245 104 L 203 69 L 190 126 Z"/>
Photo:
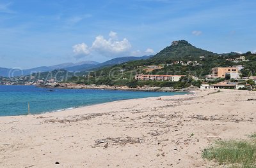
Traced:
<path id="1" fill-rule="evenodd" d="M 85 43 L 77 44 L 73 46 L 73 53 L 75 56 L 79 55 L 79 58 L 86 55 L 90 55 L 92 52 L 100 53 L 105 57 L 122 56 L 125 53 L 129 53 L 131 49 L 131 43 L 128 39 L 124 38 L 118 41 L 116 32 L 109 32 L 109 38 L 105 39 L 104 36 L 97 36 L 92 43 L 92 46 L 88 47 Z"/>

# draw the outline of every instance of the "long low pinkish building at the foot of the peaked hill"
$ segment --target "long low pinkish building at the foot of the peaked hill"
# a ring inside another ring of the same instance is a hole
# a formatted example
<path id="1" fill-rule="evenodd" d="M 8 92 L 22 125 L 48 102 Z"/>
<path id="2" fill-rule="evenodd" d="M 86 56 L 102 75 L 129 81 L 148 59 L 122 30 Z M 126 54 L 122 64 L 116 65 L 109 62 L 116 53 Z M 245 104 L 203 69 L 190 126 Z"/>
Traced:
<path id="1" fill-rule="evenodd" d="M 179 81 L 185 75 L 136 74 L 135 80 Z"/>

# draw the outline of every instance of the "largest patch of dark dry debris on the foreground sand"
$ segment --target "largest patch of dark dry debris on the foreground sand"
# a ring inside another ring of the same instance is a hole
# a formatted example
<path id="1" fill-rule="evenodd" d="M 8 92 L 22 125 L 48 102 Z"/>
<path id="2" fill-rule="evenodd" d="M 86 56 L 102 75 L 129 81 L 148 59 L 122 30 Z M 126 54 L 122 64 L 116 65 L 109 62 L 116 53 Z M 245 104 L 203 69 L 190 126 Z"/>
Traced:
<path id="1" fill-rule="evenodd" d="M 143 143 L 143 139 L 141 137 L 107 137 L 105 139 L 97 139 L 95 141 L 93 148 L 101 146 L 100 144 L 104 144 L 104 148 L 108 148 L 108 146 L 125 146 L 126 144 L 135 144 L 135 143 Z"/>

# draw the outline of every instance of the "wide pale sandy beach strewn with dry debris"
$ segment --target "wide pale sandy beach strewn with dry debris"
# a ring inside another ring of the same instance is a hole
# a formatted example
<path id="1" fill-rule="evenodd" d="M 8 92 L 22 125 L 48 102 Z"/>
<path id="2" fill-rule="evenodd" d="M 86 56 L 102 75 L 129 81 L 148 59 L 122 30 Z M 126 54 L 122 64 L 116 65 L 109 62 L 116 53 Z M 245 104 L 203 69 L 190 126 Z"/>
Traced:
<path id="1" fill-rule="evenodd" d="M 256 132 L 255 98 L 247 90 L 198 90 L 3 116 L 0 167 L 214 166 L 202 159 L 202 150 L 216 139 Z"/>

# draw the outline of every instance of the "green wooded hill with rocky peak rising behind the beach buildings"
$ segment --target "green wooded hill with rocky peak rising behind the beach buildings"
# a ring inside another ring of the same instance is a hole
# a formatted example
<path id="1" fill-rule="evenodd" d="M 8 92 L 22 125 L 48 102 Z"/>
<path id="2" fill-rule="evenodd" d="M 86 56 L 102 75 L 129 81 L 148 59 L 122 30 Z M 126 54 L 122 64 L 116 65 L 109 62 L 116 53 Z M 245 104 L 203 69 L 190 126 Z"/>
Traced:
<path id="1" fill-rule="evenodd" d="M 248 61 L 234 62 L 236 58 L 244 55 Z M 96 85 L 127 85 L 136 86 L 159 86 L 182 88 L 189 85 L 200 86 L 200 82 L 193 80 L 170 81 L 137 81 L 134 80 L 136 74 L 184 74 L 205 78 L 211 74 L 212 67 L 229 67 L 243 65 L 242 76 L 256 75 L 256 54 L 252 53 L 227 53 L 218 54 L 196 48 L 188 41 L 173 41 L 171 46 L 167 46 L 159 53 L 147 60 L 134 60 L 118 64 L 111 67 L 104 67 L 95 71 L 86 72 L 86 76 L 72 77 L 70 81 L 84 84 Z M 230 60 L 232 59 L 232 60 Z M 148 66 L 159 66 L 161 69 L 147 71 Z"/>

